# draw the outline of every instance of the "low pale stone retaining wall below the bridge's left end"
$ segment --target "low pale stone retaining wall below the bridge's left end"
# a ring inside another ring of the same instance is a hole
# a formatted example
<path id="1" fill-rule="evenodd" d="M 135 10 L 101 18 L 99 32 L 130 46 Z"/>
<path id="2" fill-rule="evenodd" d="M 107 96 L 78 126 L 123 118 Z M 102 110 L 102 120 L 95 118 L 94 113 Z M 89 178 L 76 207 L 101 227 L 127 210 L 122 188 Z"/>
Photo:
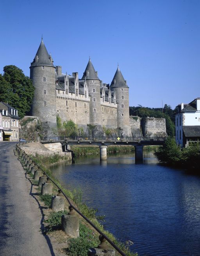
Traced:
<path id="1" fill-rule="evenodd" d="M 68 161 L 71 161 L 71 152 L 52 152 L 50 150 L 40 150 L 40 149 L 34 149 L 30 147 L 21 147 L 22 150 L 25 151 L 27 155 L 36 156 L 36 153 L 40 156 L 54 156 L 55 154 L 59 154 L 60 156 L 65 156 Z"/>

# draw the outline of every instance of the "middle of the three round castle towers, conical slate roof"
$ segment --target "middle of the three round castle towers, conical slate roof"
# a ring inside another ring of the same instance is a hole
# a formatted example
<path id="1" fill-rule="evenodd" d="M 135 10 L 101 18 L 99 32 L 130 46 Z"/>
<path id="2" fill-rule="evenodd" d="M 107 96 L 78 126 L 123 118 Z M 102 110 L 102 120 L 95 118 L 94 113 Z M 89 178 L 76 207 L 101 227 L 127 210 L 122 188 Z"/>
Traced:
<path id="1" fill-rule="evenodd" d="M 90 95 L 89 123 L 92 125 L 101 125 L 100 79 L 90 58 L 81 80 L 84 79 L 87 82 Z"/>

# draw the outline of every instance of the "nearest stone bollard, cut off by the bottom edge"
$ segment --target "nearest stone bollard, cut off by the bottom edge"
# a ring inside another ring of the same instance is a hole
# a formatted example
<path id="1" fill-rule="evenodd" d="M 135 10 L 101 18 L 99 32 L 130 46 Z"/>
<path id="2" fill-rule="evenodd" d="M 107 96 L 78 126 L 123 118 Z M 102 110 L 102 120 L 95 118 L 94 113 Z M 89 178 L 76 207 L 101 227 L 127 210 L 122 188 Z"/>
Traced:
<path id="1" fill-rule="evenodd" d="M 100 244 L 98 247 L 90 248 L 87 252 L 88 256 L 115 256 L 115 250 L 111 249 L 105 243 L 104 236 L 99 236 Z"/>

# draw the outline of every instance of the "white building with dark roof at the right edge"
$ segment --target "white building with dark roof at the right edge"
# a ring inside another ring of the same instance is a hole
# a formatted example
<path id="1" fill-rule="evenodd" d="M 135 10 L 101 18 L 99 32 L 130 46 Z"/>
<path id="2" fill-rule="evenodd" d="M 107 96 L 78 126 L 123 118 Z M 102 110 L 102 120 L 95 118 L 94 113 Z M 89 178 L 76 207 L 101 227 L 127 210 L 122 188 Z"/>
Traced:
<path id="1" fill-rule="evenodd" d="M 186 147 L 189 141 L 200 140 L 200 98 L 181 103 L 176 115 L 176 143 Z"/>

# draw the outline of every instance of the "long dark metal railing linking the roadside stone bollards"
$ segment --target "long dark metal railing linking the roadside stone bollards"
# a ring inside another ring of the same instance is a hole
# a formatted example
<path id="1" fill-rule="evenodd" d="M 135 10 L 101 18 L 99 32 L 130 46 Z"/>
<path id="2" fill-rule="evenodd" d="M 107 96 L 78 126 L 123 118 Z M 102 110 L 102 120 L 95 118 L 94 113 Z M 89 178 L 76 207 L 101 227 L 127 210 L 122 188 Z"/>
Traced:
<path id="1" fill-rule="evenodd" d="M 28 142 L 28 141 L 27 141 Z M 26 142 L 25 142 L 26 143 Z M 22 143 L 22 145 L 23 145 L 23 143 Z M 102 240 L 102 238 L 105 238 L 105 240 L 107 240 L 107 242 L 110 244 L 110 245 L 112 245 L 112 247 L 116 250 L 116 251 L 118 251 L 122 256 L 126 256 L 126 254 L 123 252 L 123 251 L 121 251 L 121 249 L 115 244 L 115 243 L 113 243 L 111 240 L 110 240 L 110 238 L 108 238 L 102 231 L 100 231 L 100 229 L 98 229 L 98 227 L 96 227 L 86 216 L 84 216 L 80 211 L 79 211 L 79 209 L 77 209 L 75 206 L 73 206 L 73 204 L 71 203 L 71 201 L 70 201 L 70 199 L 66 196 L 66 194 L 63 192 L 63 190 L 50 178 L 50 176 L 48 175 L 48 174 L 46 174 L 46 172 L 41 168 L 41 166 L 39 166 L 39 165 L 37 165 L 31 158 L 30 158 L 30 156 L 23 150 L 23 149 L 21 149 L 20 148 L 20 143 L 19 143 L 19 145 L 18 144 L 16 144 L 16 150 L 22 150 L 23 151 L 23 153 L 25 154 L 25 155 L 27 155 L 27 157 L 38 167 L 38 169 L 40 169 L 42 172 L 43 172 L 43 174 L 45 174 L 46 175 L 46 177 L 48 177 L 48 179 L 61 191 L 61 193 L 64 195 L 64 197 L 66 198 L 66 200 L 68 201 L 68 203 L 69 203 L 69 208 L 73 208 L 82 218 L 84 218 L 102 237 L 101 237 L 101 240 Z M 101 241 L 100 240 L 100 241 Z"/>

